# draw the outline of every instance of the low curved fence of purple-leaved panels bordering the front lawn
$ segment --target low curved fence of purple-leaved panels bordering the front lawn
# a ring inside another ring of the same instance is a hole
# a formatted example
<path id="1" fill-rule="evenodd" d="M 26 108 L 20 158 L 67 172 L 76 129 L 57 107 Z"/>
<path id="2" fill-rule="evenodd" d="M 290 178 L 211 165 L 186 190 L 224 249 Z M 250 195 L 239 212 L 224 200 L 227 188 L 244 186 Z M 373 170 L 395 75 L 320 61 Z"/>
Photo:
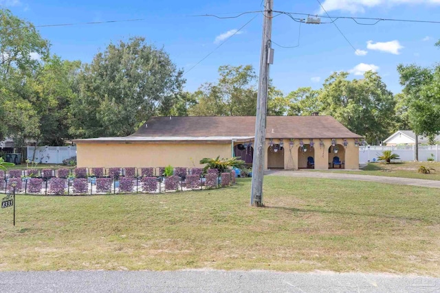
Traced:
<path id="1" fill-rule="evenodd" d="M 0 171 L 0 191 L 17 194 L 92 195 L 161 194 L 173 191 L 217 189 L 235 184 L 234 170 L 177 167 L 172 176 L 157 168 L 76 168 Z M 15 183 L 15 186 L 14 184 Z"/>

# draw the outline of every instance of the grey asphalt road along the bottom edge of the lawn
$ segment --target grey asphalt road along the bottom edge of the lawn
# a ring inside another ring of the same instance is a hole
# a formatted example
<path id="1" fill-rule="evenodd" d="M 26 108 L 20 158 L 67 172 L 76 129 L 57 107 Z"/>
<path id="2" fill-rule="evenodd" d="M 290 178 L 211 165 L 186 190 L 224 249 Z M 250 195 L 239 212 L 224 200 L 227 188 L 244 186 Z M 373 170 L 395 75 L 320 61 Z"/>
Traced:
<path id="1" fill-rule="evenodd" d="M 0 272 L 0 292 L 440 292 L 440 279 L 223 270 Z"/>

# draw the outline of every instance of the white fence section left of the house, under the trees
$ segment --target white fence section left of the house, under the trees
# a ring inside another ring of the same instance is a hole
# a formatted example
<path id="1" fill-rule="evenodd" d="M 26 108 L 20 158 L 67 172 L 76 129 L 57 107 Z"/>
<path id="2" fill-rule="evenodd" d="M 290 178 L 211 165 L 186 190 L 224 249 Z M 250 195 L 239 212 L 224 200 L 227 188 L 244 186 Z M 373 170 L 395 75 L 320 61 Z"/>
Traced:
<path id="1" fill-rule="evenodd" d="M 26 159 L 32 161 L 34 150 L 35 147 L 28 146 Z M 34 161 L 42 164 L 61 164 L 63 160 L 72 158 L 72 156 L 76 156 L 76 146 L 44 146 L 36 148 Z"/>

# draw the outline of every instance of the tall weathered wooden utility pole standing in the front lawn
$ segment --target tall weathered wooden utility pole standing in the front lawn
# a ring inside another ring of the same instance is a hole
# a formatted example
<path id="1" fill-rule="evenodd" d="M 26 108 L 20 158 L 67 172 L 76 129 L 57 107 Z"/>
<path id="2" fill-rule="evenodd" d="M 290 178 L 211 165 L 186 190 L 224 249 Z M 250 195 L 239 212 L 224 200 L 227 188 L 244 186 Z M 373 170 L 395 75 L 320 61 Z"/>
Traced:
<path id="1" fill-rule="evenodd" d="M 252 190 L 251 204 L 263 206 L 263 176 L 266 152 L 266 116 L 267 91 L 269 89 L 269 66 L 273 62 L 274 54 L 271 49 L 272 35 L 272 7 L 274 0 L 265 0 L 263 12 L 263 42 L 261 44 L 259 93 L 256 104 L 254 159 L 252 162 Z"/>

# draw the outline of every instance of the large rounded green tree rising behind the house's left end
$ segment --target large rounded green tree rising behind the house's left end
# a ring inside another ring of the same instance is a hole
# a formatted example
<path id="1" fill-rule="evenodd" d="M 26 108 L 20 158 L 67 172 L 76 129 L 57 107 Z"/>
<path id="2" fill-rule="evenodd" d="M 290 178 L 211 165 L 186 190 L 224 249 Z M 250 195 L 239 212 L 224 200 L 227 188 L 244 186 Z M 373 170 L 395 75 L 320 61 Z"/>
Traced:
<path id="1" fill-rule="evenodd" d="M 182 73 L 144 38 L 111 43 L 78 73 L 69 132 L 75 137 L 133 133 L 151 115 L 172 110 L 181 97 Z"/>

